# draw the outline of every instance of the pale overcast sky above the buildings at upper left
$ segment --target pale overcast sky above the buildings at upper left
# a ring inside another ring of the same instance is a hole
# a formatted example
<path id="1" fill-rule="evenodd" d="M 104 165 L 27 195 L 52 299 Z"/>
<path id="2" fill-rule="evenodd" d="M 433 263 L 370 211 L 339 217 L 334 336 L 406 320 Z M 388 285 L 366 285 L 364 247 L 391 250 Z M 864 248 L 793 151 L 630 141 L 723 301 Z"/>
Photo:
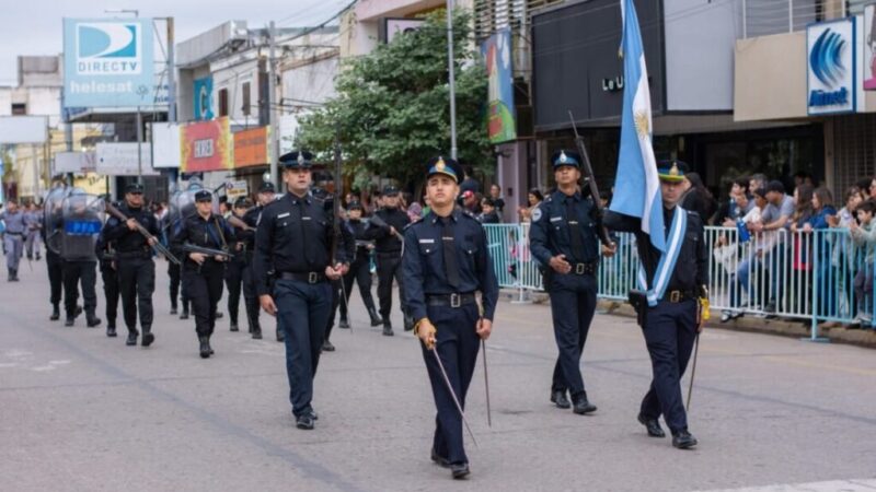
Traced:
<path id="1" fill-rule="evenodd" d="M 19 55 L 57 55 L 64 50 L 64 17 L 107 17 L 105 10 L 139 9 L 141 17 L 173 16 L 176 40 L 188 39 L 226 21 L 263 27 L 319 25 L 350 0 L 4 0 L 0 14 L 0 85 L 18 83 Z M 163 30 L 163 22 L 159 24 Z M 163 36 L 162 36 L 163 38 Z"/>

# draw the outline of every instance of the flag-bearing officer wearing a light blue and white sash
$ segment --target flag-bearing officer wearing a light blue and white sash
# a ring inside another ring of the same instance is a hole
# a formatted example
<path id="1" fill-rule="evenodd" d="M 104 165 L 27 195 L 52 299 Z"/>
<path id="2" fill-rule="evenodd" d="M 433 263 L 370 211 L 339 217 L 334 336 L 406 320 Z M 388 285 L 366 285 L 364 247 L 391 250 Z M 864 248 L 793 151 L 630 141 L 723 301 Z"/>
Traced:
<path id="1" fill-rule="evenodd" d="M 631 293 L 645 335 L 654 379 L 642 400 L 638 421 L 649 436 L 664 437 L 660 414 L 672 433 L 672 445 L 685 449 L 696 445 L 688 431 L 688 415 L 681 399 L 681 377 L 688 366 L 696 333 L 702 330 L 703 312 L 708 308 L 708 251 L 703 238 L 703 220 L 683 210 L 685 166 L 661 163 L 658 169 L 662 194 L 667 253 L 655 248 L 642 232 L 641 220 L 615 212 L 606 213 L 606 225 L 613 231 L 636 235 L 646 285 Z M 673 238 L 676 238 L 673 241 Z M 666 255 L 666 261 L 660 261 Z"/>

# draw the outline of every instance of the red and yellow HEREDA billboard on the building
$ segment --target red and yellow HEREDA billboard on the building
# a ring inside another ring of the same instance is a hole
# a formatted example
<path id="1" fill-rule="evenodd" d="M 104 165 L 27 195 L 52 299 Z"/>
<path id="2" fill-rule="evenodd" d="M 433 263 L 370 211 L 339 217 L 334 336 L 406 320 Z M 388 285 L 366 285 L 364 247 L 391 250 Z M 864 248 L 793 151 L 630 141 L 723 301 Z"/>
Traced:
<path id="1" fill-rule="evenodd" d="M 234 149 L 227 117 L 198 121 L 180 132 L 180 171 L 199 173 L 234 167 Z"/>

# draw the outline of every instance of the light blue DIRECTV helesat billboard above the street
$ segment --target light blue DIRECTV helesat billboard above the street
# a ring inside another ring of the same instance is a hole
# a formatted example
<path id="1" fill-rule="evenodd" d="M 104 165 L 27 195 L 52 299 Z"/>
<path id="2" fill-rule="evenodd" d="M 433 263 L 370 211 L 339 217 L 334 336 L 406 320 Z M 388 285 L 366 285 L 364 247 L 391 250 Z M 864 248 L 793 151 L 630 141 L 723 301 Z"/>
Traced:
<path id="1" fill-rule="evenodd" d="M 152 20 L 64 20 L 64 107 L 152 106 Z"/>

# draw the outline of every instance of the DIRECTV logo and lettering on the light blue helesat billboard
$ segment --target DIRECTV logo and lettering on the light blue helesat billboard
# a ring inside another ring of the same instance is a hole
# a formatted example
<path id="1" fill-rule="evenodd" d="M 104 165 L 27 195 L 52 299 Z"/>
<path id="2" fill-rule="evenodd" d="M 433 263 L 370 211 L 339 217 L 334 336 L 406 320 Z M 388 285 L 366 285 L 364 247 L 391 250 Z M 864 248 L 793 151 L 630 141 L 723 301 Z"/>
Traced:
<path id="1" fill-rule="evenodd" d="M 76 30 L 80 75 L 136 75 L 142 71 L 138 23 L 82 23 Z"/>

